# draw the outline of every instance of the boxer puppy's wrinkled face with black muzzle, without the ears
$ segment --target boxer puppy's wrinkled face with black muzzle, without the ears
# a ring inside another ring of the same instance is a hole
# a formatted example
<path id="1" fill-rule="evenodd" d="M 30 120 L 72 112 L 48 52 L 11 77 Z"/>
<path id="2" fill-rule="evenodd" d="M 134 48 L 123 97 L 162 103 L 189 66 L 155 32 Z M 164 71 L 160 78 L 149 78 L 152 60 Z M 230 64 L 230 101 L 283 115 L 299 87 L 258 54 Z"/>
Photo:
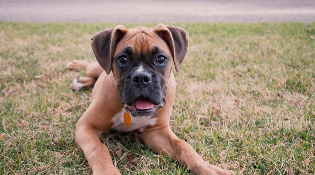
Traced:
<path id="1" fill-rule="evenodd" d="M 117 44 L 112 71 L 132 116 L 154 116 L 164 106 L 171 58 L 167 44 L 148 28 L 129 30 Z"/>

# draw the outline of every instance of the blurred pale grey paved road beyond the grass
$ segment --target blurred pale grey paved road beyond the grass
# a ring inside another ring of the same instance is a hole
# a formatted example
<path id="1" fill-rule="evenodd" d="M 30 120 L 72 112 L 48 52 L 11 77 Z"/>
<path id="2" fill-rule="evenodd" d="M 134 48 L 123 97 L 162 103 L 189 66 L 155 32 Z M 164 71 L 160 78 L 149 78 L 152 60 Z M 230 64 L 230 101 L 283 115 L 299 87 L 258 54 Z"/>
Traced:
<path id="1" fill-rule="evenodd" d="M 314 22 L 315 0 L 0 0 L 1 21 Z"/>

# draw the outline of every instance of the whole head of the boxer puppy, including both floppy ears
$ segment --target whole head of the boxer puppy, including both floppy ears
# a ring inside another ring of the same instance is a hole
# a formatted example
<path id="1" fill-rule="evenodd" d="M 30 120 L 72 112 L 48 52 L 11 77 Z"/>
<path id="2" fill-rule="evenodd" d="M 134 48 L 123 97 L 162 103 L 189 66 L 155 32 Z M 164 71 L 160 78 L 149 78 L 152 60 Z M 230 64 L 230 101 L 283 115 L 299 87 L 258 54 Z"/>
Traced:
<path id="1" fill-rule="evenodd" d="M 117 25 L 92 37 L 97 61 L 113 72 L 123 106 L 134 117 L 152 117 L 164 106 L 171 58 L 179 71 L 187 47 L 184 29 L 163 24 L 129 30 Z"/>

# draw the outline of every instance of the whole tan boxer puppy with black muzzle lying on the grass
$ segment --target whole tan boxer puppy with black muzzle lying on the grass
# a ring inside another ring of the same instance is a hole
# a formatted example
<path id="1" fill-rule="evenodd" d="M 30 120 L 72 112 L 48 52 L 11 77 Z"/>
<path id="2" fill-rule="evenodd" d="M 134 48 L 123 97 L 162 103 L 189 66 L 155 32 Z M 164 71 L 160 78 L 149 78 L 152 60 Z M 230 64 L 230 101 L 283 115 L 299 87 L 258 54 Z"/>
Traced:
<path id="1" fill-rule="evenodd" d="M 75 132 L 75 141 L 93 174 L 120 174 L 100 142 L 102 133 L 139 130 L 150 149 L 170 155 L 192 172 L 234 175 L 204 161 L 169 126 L 176 89 L 171 59 L 179 71 L 188 47 L 184 29 L 163 24 L 134 29 L 117 25 L 96 33 L 91 40 L 98 63 L 72 61 L 67 67 L 84 68 L 88 76 L 75 79 L 72 88 L 95 84 L 92 102 Z"/>

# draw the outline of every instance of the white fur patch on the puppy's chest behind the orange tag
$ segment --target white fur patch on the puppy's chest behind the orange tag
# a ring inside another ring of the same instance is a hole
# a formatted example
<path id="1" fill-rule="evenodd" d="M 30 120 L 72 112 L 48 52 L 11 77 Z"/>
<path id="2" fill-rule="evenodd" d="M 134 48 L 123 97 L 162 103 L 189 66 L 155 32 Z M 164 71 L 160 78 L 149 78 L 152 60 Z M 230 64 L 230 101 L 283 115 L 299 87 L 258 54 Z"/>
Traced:
<path id="1" fill-rule="evenodd" d="M 136 118 L 132 117 L 132 124 L 130 127 L 127 127 L 123 121 L 123 113 L 125 112 L 124 109 L 121 112 L 115 114 L 112 118 L 112 122 L 114 125 L 112 126 L 112 130 L 118 132 L 130 132 L 136 129 L 139 129 L 140 132 L 148 125 L 155 125 L 157 118 Z"/>

